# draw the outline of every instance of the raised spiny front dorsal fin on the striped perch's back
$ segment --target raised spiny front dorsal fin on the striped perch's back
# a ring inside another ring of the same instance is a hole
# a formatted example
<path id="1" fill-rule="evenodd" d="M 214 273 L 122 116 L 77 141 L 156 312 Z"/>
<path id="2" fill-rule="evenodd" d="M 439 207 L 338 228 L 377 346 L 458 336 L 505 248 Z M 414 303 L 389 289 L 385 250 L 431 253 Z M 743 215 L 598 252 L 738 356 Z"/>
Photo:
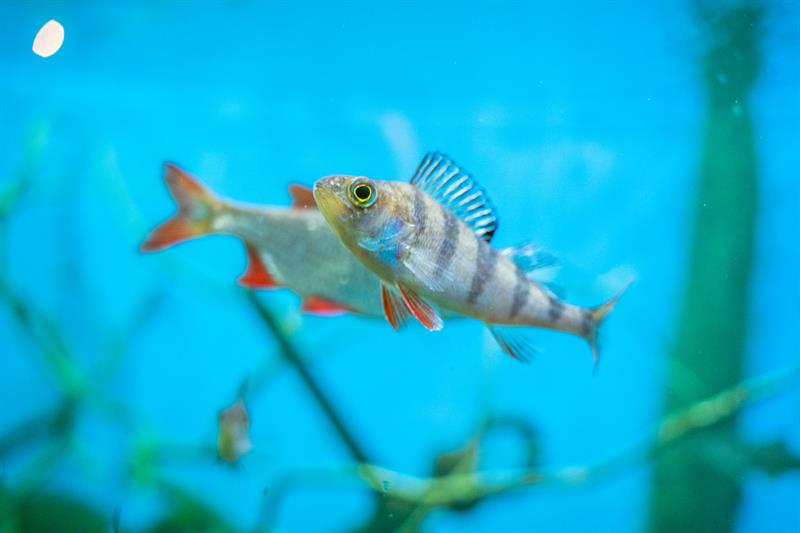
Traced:
<path id="1" fill-rule="evenodd" d="M 441 152 L 428 152 L 411 183 L 447 207 L 487 242 L 497 231 L 497 214 L 483 188 L 467 171 Z"/>

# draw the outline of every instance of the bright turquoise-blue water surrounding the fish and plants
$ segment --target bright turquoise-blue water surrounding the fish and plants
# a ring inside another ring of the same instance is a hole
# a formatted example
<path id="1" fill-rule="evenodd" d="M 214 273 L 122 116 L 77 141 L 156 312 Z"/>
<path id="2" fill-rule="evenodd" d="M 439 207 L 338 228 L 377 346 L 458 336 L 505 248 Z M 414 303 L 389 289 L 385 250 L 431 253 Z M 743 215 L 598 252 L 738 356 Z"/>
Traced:
<path id="1" fill-rule="evenodd" d="M 66 37 L 44 59 L 31 43 L 51 18 Z M 604 329 L 595 376 L 585 344 L 555 333 L 537 333 L 540 355 L 522 365 L 474 321 L 394 333 L 381 321 L 302 315 L 283 291 L 259 295 L 370 462 L 430 475 L 437 454 L 493 416 L 534 432 L 538 451 L 527 457 L 518 432 L 497 429 L 481 470 L 591 465 L 663 416 L 704 201 L 699 61 L 709 37 L 691 5 L 4 3 L 0 27 L 0 191 L 27 183 L 3 218 L 0 272 L 52 317 L 69 367 L 104 398 L 79 395 L 64 439 L 0 446 L 4 491 L 71 495 L 123 530 L 172 512 L 161 482 L 239 530 L 347 530 L 373 513 L 368 490 L 329 474 L 354 459 L 236 288 L 241 245 L 214 236 L 138 252 L 173 209 L 165 160 L 225 196 L 288 205 L 290 182 L 405 180 L 425 152 L 446 151 L 489 191 L 496 245 L 533 240 L 557 254 L 570 300 L 595 304 L 636 278 Z M 800 8 L 771 5 L 761 27 L 759 76 L 731 107 L 753 121 L 759 186 L 743 377 L 800 361 Z M 57 409 L 65 387 L 63 366 L 32 340 L 52 342 L 52 331 L 29 335 L 18 316 L 0 309 L 6 436 Z M 217 412 L 265 365 L 248 399 L 254 450 L 231 468 L 208 450 Z M 798 413 L 795 380 L 745 406 L 741 438 L 780 441 L 796 456 Z M 132 468 L 144 449 L 164 457 Z M 323 479 L 282 488 L 308 470 Z M 637 460 L 596 483 L 438 508 L 423 530 L 640 531 L 651 474 Z M 796 469 L 731 476 L 743 492 L 722 529 L 800 529 Z"/>

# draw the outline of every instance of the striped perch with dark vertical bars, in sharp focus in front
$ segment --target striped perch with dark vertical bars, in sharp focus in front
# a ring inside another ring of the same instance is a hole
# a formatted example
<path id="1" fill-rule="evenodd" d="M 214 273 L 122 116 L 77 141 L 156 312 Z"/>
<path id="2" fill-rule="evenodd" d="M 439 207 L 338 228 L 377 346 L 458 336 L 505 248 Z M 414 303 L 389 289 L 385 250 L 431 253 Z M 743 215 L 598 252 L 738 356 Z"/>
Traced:
<path id="1" fill-rule="evenodd" d="M 331 175 L 313 193 L 339 239 L 381 279 L 384 314 L 395 329 L 413 316 L 440 330 L 446 310 L 484 322 L 501 349 L 523 361 L 535 348 L 520 327 L 557 330 L 585 339 L 597 367 L 598 329 L 622 291 L 581 307 L 537 283 L 532 245 L 491 246 L 495 208 L 447 155 L 426 154 L 410 182 Z"/>

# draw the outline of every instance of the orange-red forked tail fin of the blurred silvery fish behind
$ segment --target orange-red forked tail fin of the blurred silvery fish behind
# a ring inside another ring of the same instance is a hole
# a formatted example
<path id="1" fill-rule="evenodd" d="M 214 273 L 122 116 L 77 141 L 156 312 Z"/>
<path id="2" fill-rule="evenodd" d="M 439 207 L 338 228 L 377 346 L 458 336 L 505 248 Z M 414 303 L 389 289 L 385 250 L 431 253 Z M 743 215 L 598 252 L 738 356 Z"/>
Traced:
<path id="1" fill-rule="evenodd" d="M 161 250 L 211 231 L 212 217 L 218 204 L 214 195 L 172 163 L 164 165 L 164 181 L 178 204 L 178 211 L 147 236 L 140 246 L 145 252 Z"/>

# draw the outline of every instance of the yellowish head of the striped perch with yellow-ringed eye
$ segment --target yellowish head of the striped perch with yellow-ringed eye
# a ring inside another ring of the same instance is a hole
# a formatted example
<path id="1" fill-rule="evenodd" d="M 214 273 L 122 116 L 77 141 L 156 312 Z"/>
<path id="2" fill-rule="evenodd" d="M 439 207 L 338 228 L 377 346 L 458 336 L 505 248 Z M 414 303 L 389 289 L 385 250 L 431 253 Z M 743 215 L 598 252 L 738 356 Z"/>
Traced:
<path id="1" fill-rule="evenodd" d="M 326 176 L 314 184 L 314 200 L 346 246 L 370 250 L 387 244 L 404 218 L 396 188 L 394 182 L 364 176 Z"/>

